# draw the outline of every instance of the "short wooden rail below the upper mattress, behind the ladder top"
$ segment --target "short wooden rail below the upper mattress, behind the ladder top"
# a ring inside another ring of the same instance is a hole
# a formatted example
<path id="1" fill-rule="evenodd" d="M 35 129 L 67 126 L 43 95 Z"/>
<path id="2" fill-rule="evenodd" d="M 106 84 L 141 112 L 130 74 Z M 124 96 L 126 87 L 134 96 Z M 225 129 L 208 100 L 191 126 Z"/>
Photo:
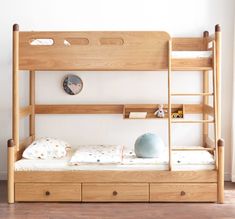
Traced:
<path id="1" fill-rule="evenodd" d="M 174 71 L 200 71 L 211 70 L 211 58 L 191 58 L 191 59 L 172 59 L 172 69 Z"/>

